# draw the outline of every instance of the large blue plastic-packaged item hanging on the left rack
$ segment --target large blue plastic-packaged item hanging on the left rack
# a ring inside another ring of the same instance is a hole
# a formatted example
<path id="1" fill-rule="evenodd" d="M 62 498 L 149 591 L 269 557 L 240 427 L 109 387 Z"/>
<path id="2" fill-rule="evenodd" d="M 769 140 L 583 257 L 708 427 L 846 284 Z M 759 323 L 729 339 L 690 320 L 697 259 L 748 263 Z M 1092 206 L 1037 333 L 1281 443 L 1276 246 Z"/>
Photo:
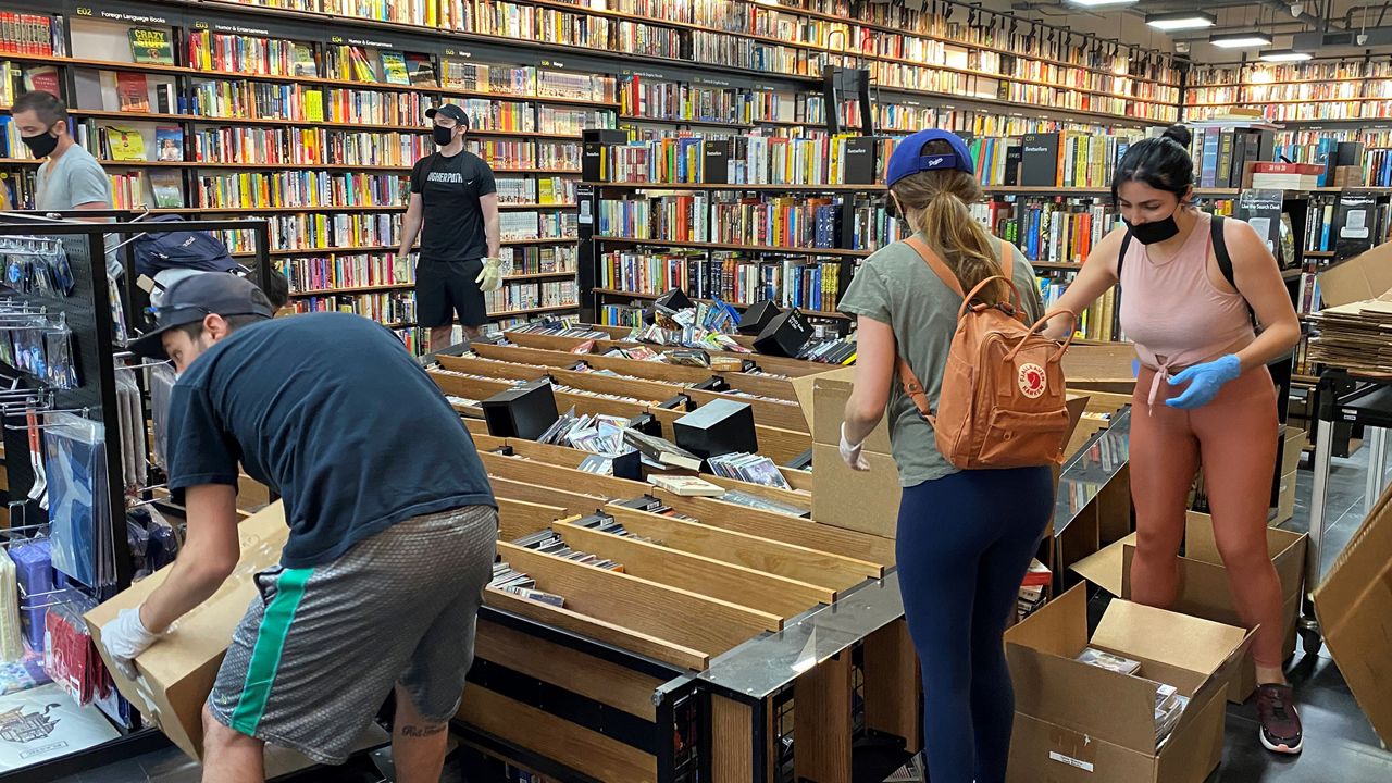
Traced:
<path id="1" fill-rule="evenodd" d="M 45 419 L 53 567 L 93 589 L 111 585 L 106 426 L 65 412 Z"/>

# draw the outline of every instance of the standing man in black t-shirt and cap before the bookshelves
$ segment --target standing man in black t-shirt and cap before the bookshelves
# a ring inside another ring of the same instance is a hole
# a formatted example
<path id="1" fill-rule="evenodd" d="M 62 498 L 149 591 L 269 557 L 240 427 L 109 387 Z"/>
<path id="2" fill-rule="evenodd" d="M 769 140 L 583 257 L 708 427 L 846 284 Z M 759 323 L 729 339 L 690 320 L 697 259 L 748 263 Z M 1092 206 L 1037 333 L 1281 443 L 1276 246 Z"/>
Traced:
<path id="1" fill-rule="evenodd" d="M 503 286 L 498 259 L 498 192 L 493 170 L 464 149 L 469 116 L 445 103 L 426 111 L 440 152 L 411 170 L 411 203 L 401 223 L 401 255 L 420 235 L 416 265 L 416 322 L 430 327 L 430 350 L 450 346 L 455 313 L 465 337 L 489 320 L 484 291 Z"/>

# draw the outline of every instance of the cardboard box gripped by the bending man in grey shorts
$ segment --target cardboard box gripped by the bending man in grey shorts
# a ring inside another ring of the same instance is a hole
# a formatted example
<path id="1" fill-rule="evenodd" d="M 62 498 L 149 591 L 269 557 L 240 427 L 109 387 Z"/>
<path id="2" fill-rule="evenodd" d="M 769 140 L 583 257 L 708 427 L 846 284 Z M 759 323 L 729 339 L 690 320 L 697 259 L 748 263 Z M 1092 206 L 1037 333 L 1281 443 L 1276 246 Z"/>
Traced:
<path id="1" fill-rule="evenodd" d="M 168 736 L 170 741 L 193 758 L 203 752 L 203 702 L 213 690 L 223 653 L 232 639 L 232 630 L 258 599 L 252 582 L 258 571 L 280 563 L 280 552 L 290 536 L 281 503 L 276 503 L 238 525 L 242 556 L 237 570 L 212 598 L 181 617 L 170 635 L 141 655 L 135 665 L 139 680 L 122 677 L 107 660 L 117 690 L 136 709 Z M 102 651 L 102 626 L 122 609 L 139 606 L 168 577 L 168 568 L 135 582 L 111 600 L 88 612 L 92 637 Z"/>

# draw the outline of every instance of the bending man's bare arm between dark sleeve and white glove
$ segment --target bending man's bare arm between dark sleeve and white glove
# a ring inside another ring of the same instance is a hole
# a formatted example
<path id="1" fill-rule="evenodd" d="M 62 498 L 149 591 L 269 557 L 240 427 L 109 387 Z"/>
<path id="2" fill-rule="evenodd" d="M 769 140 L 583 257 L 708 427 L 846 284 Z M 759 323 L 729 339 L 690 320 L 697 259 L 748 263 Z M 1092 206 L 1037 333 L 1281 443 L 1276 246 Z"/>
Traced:
<path id="1" fill-rule="evenodd" d="M 241 545 L 237 539 L 237 488 L 203 483 L 185 492 L 188 534 L 170 575 L 141 606 L 141 624 L 163 634 L 227 581 Z"/>

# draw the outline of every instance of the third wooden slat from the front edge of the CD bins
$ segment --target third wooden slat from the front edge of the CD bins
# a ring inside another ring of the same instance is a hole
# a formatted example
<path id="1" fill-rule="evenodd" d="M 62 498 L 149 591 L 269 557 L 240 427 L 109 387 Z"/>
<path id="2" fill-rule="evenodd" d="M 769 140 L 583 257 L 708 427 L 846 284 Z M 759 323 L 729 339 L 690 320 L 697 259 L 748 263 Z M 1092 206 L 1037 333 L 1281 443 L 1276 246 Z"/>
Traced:
<path id="1" fill-rule="evenodd" d="M 679 549 L 568 522 L 555 522 L 551 529 L 561 534 L 571 549 L 622 563 L 629 575 L 749 606 L 785 620 L 837 599 L 837 592 L 831 589 Z"/>

